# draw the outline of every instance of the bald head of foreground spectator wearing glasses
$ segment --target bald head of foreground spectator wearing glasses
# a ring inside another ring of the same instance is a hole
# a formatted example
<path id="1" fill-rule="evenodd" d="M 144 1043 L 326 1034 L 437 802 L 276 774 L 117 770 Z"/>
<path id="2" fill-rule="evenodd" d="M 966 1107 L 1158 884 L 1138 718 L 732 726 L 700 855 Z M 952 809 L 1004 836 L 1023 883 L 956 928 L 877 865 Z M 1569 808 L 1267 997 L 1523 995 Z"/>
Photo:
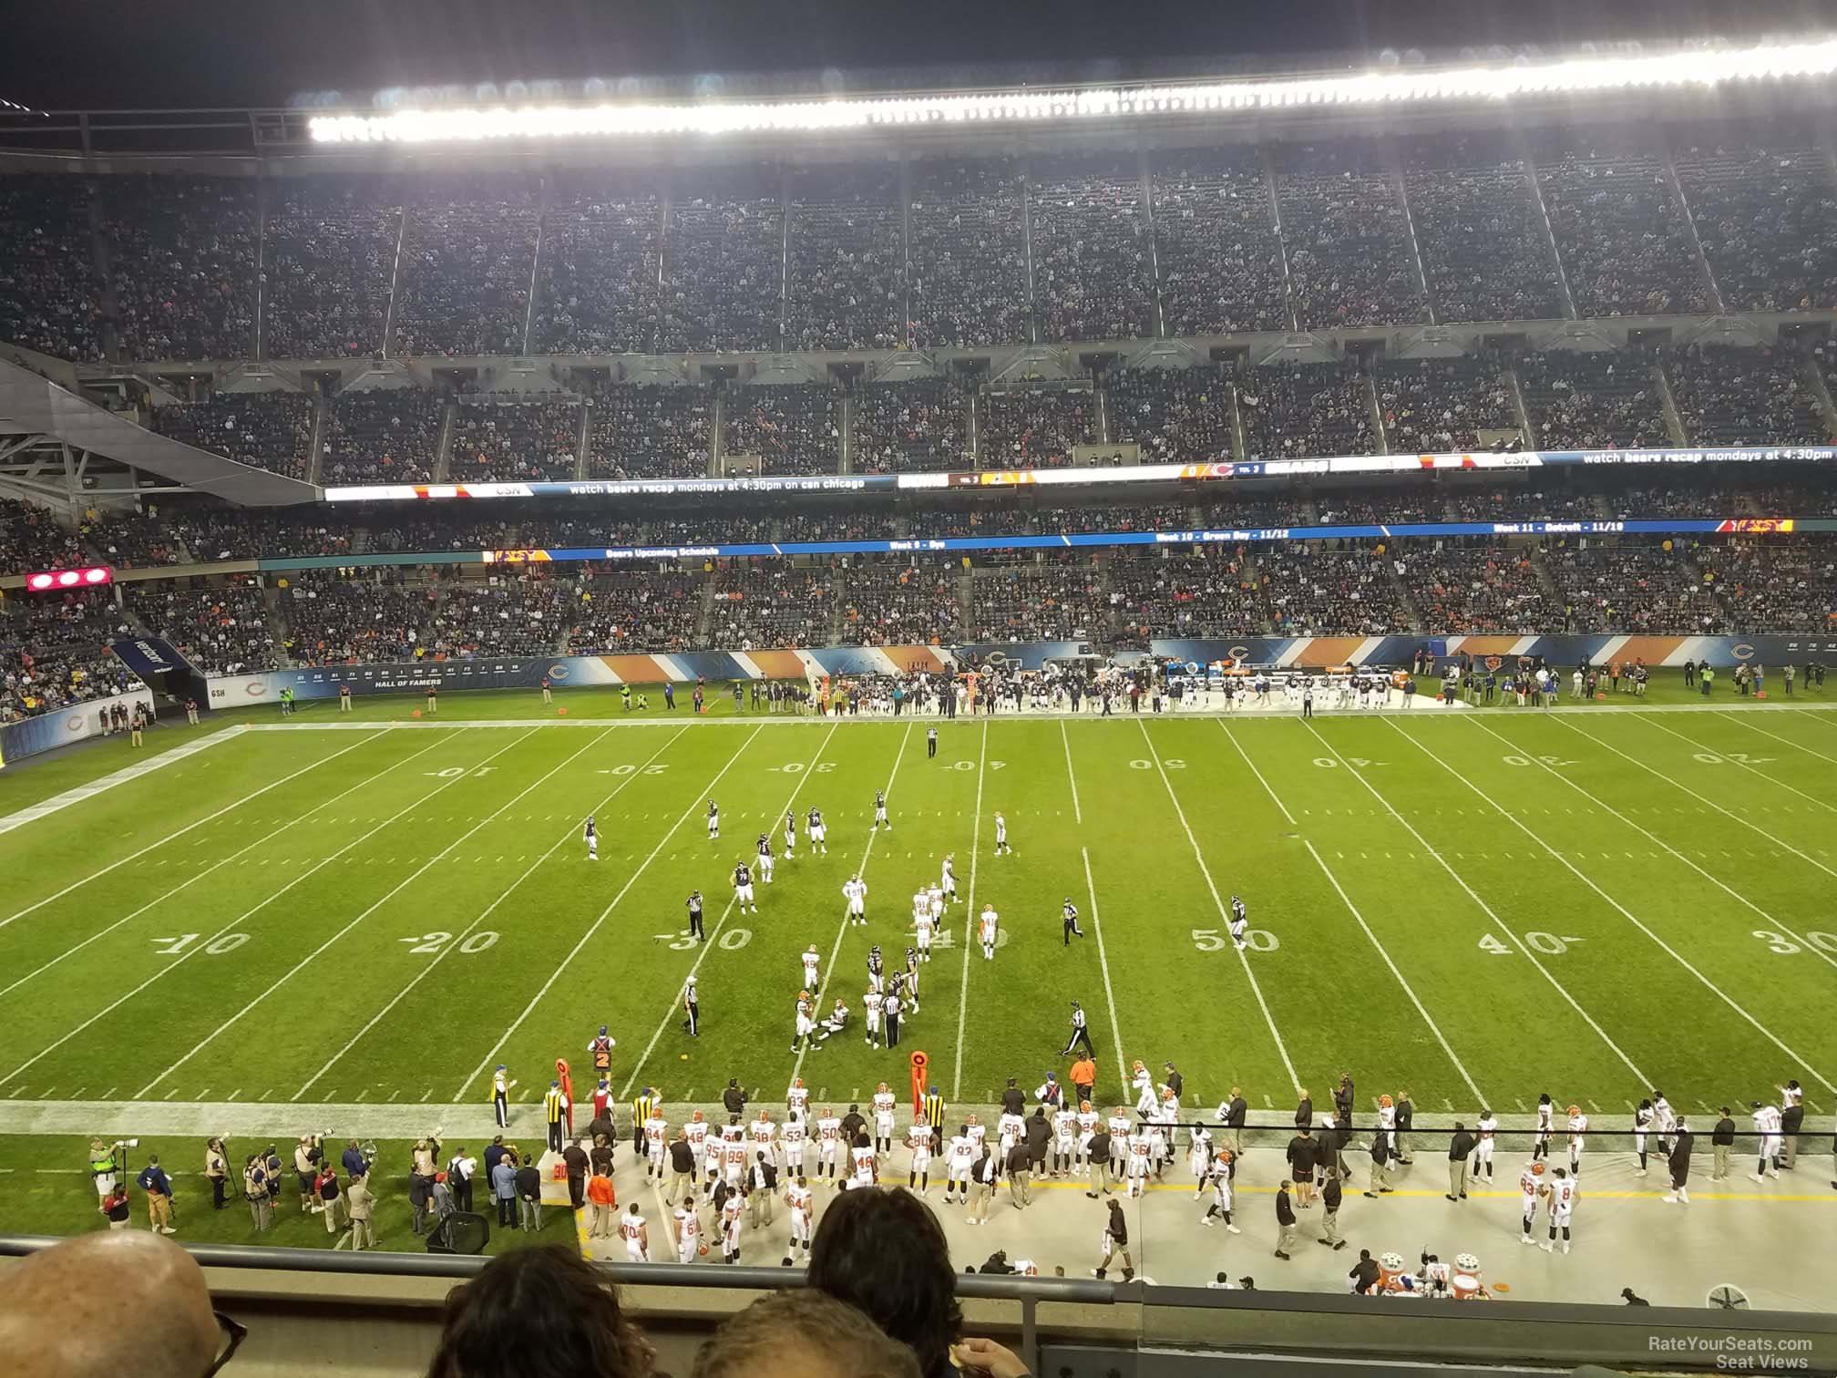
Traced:
<path id="1" fill-rule="evenodd" d="M 7 1372 L 202 1378 L 228 1343 L 204 1270 L 152 1231 L 81 1235 L 0 1273 Z"/>

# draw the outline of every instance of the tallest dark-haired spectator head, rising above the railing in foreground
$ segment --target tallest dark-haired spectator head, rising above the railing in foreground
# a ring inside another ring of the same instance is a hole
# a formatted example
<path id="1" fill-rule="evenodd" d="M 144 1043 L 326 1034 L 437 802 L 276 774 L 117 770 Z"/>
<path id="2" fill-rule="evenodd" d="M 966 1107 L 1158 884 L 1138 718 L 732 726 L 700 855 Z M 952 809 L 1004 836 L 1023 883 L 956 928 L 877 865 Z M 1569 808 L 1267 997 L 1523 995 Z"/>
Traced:
<path id="1" fill-rule="evenodd" d="M 810 1286 L 911 1345 L 926 1378 L 950 1378 L 963 1310 L 944 1231 L 917 1196 L 860 1187 L 830 1202 L 810 1242 Z"/>

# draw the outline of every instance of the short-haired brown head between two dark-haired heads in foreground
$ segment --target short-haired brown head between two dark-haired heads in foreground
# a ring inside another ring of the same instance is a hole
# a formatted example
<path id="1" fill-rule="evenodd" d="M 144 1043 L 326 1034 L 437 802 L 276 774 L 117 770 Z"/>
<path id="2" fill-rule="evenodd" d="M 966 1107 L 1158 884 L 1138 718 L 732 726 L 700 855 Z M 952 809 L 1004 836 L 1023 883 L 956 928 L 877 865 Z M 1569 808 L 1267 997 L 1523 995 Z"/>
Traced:
<path id="1" fill-rule="evenodd" d="M 856 1192 L 849 1192 L 854 1196 Z M 693 1378 L 920 1378 L 911 1349 L 823 1292 L 772 1292 L 702 1345 Z"/>

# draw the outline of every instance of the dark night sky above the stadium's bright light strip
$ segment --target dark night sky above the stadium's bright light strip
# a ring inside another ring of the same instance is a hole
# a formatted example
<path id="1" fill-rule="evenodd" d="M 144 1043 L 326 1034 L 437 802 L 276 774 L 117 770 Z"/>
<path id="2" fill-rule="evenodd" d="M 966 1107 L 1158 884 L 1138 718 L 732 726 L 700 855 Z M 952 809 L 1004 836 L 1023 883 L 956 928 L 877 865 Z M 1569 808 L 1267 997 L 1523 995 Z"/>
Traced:
<path id="1" fill-rule="evenodd" d="M 11 0 L 0 13 L 0 97 L 53 110 L 274 107 L 331 90 L 367 105 L 391 86 L 544 77 L 707 90 L 716 75 L 729 96 L 819 90 L 825 73 L 854 90 L 1106 81 L 1363 62 L 1383 48 L 1433 59 L 1837 31 L 1837 0 Z"/>

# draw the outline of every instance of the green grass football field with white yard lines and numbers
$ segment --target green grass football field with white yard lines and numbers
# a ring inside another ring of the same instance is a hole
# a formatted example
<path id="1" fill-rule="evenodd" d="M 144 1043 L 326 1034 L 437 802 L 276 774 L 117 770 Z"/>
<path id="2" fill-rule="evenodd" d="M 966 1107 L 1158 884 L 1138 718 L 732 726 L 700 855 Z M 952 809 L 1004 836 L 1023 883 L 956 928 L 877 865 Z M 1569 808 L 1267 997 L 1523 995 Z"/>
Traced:
<path id="1" fill-rule="evenodd" d="M 584 1097 L 606 1023 L 626 1097 L 711 1102 L 729 1077 L 779 1097 L 801 1075 L 851 1101 L 904 1090 L 922 1049 L 946 1097 L 990 1102 L 1067 1066 L 1080 1001 L 1104 1101 L 1133 1101 L 1141 1058 L 1176 1062 L 1189 1104 L 1238 1084 L 1255 1112 L 1352 1071 L 1431 1113 L 1550 1091 L 1618 1123 L 1653 1088 L 1697 1112 L 1787 1077 L 1828 1113 L 1837 715 L 1729 704 L 959 718 L 935 759 L 928 720 L 558 718 L 531 695 L 439 724 L 406 700 L 219 722 L 224 740 L 0 832 L 0 1099 L 483 1104 L 502 1062 L 533 1101 L 557 1056 Z M 96 777 L 129 755 L 83 759 Z M 0 785 L 0 812 L 29 785 Z M 735 913 L 735 862 L 812 807 L 828 853 L 799 827 L 761 913 Z M 963 902 L 900 1047 L 871 1049 L 867 950 L 904 965 L 946 854 Z M 854 873 L 867 928 L 843 921 Z M 992 961 L 970 943 L 985 904 Z M 840 996 L 852 1027 L 797 1055 L 810 944 L 819 1011 Z"/>

